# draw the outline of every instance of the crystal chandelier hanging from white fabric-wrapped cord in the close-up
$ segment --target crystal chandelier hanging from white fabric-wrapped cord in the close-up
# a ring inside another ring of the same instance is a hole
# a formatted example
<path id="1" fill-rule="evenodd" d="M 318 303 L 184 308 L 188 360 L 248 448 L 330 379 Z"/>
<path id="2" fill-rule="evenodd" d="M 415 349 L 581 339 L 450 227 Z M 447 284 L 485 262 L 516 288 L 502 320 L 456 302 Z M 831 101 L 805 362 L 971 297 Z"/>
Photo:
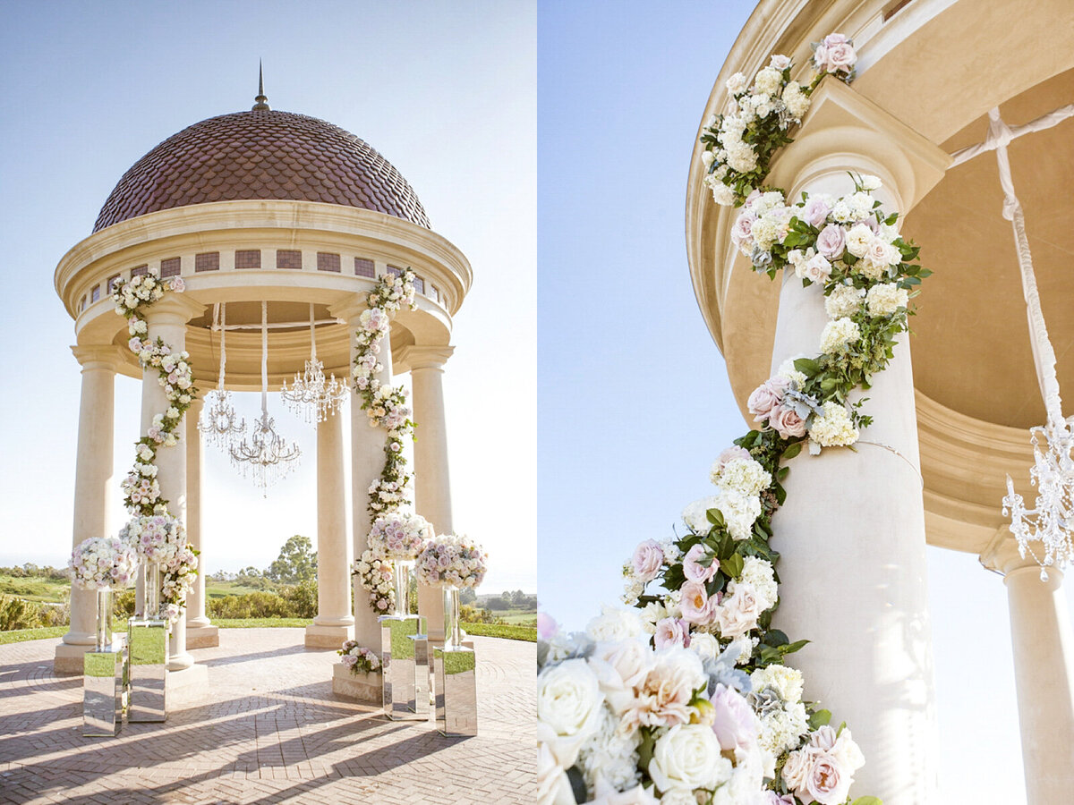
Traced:
<path id="1" fill-rule="evenodd" d="M 979 146 L 964 149 L 955 155 L 955 164 L 966 161 L 984 150 L 996 150 L 999 164 L 1000 185 L 1003 187 L 1003 217 L 1014 228 L 1015 247 L 1018 253 L 1018 268 L 1021 272 L 1021 290 L 1026 297 L 1026 313 L 1033 348 L 1033 363 L 1036 378 L 1044 398 L 1047 419 L 1043 426 L 1030 428 L 1033 443 L 1033 466 L 1029 470 L 1031 483 L 1036 486 L 1036 500 L 1032 509 L 1027 509 L 1021 495 L 1014 491 L 1014 482 L 1007 475 L 1007 494 L 1003 498 L 1003 514 L 1011 515 L 1011 532 L 1018 541 L 1018 553 L 1033 557 L 1041 566 L 1041 580 L 1047 581 L 1050 567 L 1060 569 L 1074 560 L 1074 543 L 1071 527 L 1074 526 L 1074 436 L 1071 422 L 1063 419 L 1062 398 L 1059 396 L 1059 380 L 1056 377 L 1056 352 L 1048 339 L 1048 330 L 1041 310 L 1041 296 L 1036 290 L 1033 260 L 1026 235 L 1026 220 L 1021 203 L 1014 192 L 1011 177 L 1011 161 L 1007 145 L 1017 136 L 1055 126 L 1074 114 L 1074 107 L 1064 107 L 1032 120 L 1025 126 L 1011 129 L 1000 117 L 999 107 L 988 113 L 988 138 Z M 1034 550 L 1040 543 L 1043 556 Z"/>

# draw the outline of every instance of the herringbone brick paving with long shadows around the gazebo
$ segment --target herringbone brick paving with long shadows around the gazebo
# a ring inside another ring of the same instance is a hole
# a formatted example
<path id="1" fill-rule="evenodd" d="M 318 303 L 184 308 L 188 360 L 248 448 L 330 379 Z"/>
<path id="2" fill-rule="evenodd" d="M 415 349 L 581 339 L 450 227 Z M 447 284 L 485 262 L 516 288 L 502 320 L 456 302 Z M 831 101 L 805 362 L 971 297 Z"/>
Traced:
<path id="1" fill-rule="evenodd" d="M 165 723 L 82 736 L 82 677 L 56 641 L 0 646 L 0 803 L 532 803 L 533 643 L 474 638 L 478 730 L 445 738 L 332 693 L 301 629 L 221 629 L 192 652 L 208 696 Z"/>

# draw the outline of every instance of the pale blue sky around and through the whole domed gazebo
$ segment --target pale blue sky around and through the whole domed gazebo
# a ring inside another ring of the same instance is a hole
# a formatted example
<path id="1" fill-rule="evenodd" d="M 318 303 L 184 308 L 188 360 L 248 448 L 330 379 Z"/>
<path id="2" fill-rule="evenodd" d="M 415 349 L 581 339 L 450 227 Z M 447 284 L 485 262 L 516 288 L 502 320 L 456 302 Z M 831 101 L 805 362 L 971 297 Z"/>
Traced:
<path id="1" fill-rule="evenodd" d="M 455 526 L 491 553 L 485 590 L 536 589 L 535 4 L 5 3 L 0 43 L 0 565 L 71 550 L 79 374 L 56 263 L 153 146 L 249 109 L 263 58 L 273 108 L 371 143 L 468 257 L 444 381 Z M 139 383 L 117 379 L 117 478 L 139 405 Z M 315 431 L 270 406 L 302 465 L 264 500 L 206 449 L 209 571 L 264 568 L 316 533 Z M 113 504 L 118 526 L 118 488 Z"/>

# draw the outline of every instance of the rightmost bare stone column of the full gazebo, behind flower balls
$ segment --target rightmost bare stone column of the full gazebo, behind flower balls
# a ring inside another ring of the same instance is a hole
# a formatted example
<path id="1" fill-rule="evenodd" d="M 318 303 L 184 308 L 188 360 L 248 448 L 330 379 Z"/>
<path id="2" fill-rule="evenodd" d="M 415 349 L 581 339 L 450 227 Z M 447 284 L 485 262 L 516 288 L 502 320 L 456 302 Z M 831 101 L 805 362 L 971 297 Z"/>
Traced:
<path id="1" fill-rule="evenodd" d="M 451 533 L 451 479 L 448 471 L 448 433 L 444 415 L 444 364 L 453 347 L 407 347 L 413 421 L 415 509 L 438 535 Z M 425 616 L 429 638 L 444 640 L 444 594 L 438 587 L 418 587 L 418 611 Z"/>

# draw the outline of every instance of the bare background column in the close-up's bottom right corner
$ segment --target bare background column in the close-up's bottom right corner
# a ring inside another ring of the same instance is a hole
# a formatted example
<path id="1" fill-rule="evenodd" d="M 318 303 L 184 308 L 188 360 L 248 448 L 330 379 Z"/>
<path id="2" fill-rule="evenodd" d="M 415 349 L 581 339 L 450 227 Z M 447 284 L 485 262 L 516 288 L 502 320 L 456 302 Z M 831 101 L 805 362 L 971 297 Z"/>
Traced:
<path id="1" fill-rule="evenodd" d="M 1074 790 L 1074 633 L 1063 573 L 1048 568 L 1041 581 L 1005 526 L 981 559 L 1007 588 L 1026 802 L 1065 802 Z"/>

